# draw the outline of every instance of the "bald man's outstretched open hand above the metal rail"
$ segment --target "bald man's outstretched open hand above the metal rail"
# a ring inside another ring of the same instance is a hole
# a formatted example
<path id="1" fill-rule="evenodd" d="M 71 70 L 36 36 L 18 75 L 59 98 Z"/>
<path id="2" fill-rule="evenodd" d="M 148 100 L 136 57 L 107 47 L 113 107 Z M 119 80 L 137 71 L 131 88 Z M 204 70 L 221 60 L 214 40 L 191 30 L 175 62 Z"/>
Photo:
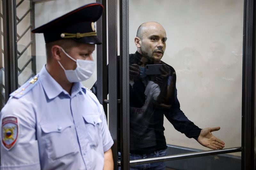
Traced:
<path id="1" fill-rule="evenodd" d="M 197 138 L 197 142 L 210 149 L 224 148 L 225 143 L 219 138 L 212 135 L 212 132 L 217 130 L 220 130 L 220 127 L 202 129 L 199 137 Z"/>

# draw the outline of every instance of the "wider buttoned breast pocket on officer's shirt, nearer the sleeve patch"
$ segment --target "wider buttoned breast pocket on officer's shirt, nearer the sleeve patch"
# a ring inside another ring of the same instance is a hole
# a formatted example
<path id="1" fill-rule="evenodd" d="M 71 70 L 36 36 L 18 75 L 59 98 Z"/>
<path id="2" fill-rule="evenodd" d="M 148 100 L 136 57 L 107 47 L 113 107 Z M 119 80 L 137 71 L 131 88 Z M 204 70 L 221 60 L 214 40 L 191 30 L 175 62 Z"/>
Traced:
<path id="1" fill-rule="evenodd" d="M 47 148 L 48 157 L 59 159 L 76 152 L 75 130 L 73 123 L 68 119 L 41 124 Z"/>

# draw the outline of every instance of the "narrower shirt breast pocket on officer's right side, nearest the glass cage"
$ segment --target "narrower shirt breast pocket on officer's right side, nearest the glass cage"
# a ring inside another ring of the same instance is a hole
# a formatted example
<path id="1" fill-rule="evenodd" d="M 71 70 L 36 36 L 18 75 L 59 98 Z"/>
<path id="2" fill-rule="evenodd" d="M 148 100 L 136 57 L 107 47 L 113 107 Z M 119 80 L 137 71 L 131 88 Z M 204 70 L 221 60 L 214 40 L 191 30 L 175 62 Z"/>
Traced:
<path id="1" fill-rule="evenodd" d="M 100 124 L 102 120 L 97 114 L 83 115 L 90 146 L 97 147 L 101 136 Z"/>

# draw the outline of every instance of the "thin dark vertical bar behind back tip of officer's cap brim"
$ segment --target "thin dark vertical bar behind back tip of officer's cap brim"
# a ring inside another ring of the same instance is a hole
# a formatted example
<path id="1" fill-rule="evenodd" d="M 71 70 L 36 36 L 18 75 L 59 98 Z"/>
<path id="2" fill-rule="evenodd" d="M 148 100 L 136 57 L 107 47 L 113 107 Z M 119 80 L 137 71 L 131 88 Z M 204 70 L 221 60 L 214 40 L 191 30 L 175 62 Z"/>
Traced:
<path id="1" fill-rule="evenodd" d="M 35 3 L 30 1 L 30 24 L 32 26 L 31 30 L 35 28 Z M 36 75 L 36 35 L 34 33 L 31 34 L 31 56 L 33 57 L 31 62 L 32 73 Z"/>

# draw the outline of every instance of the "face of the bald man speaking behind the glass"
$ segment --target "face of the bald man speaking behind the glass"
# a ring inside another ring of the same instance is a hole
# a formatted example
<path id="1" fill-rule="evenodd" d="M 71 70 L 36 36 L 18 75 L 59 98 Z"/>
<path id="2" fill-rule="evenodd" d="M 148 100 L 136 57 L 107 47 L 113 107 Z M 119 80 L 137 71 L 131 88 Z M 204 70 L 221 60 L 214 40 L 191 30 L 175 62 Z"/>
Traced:
<path id="1" fill-rule="evenodd" d="M 160 24 L 151 24 L 143 30 L 140 50 L 143 56 L 154 62 L 159 62 L 166 48 L 166 33 Z"/>

